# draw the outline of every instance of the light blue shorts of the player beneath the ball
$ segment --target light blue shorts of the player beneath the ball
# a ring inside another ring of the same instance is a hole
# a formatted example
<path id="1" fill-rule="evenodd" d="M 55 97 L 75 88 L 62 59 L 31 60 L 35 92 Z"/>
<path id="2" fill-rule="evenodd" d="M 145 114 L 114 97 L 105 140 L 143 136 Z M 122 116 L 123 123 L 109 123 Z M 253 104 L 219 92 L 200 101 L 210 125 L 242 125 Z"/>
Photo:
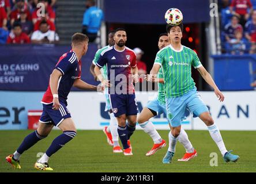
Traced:
<path id="1" fill-rule="evenodd" d="M 181 97 L 166 98 L 167 119 L 172 127 L 179 127 L 186 108 L 193 112 L 194 116 L 200 116 L 204 112 L 209 112 L 202 101 L 197 89 L 194 88 Z"/>

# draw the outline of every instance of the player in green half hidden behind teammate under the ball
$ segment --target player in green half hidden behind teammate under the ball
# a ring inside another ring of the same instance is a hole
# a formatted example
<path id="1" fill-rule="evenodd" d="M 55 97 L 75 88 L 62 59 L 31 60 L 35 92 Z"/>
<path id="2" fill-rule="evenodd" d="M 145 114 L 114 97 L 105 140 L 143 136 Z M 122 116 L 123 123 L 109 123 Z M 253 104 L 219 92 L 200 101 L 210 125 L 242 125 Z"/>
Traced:
<path id="1" fill-rule="evenodd" d="M 168 34 L 161 33 L 159 35 L 159 41 L 158 41 L 159 50 L 161 50 L 162 48 L 170 44 L 171 44 L 171 41 L 168 37 Z M 163 72 L 161 71 L 161 68 L 160 68 L 160 71 L 157 74 L 157 78 L 153 78 L 152 81 L 150 81 L 150 82 L 158 83 L 157 97 L 153 101 L 148 102 L 148 104 L 146 105 L 145 108 L 143 108 L 142 112 L 140 113 L 140 116 L 138 117 L 138 124 L 140 125 L 141 128 L 143 128 L 144 132 L 148 133 L 148 135 L 154 141 L 154 145 L 152 149 L 146 153 L 146 156 L 155 154 L 157 150 L 165 147 L 166 145 L 165 140 L 161 139 L 161 136 L 156 131 L 155 126 L 149 120 L 150 118 L 158 114 L 162 114 L 162 113 L 167 114 L 166 107 L 165 107 L 163 78 L 164 78 Z M 197 151 L 195 151 L 195 149 L 193 148 L 193 145 L 190 143 L 187 133 L 185 132 L 184 129 L 181 129 L 178 140 L 186 149 L 186 154 L 183 156 L 182 159 L 179 159 L 178 161 L 189 161 L 190 159 L 193 159 L 195 156 L 197 156 Z"/>

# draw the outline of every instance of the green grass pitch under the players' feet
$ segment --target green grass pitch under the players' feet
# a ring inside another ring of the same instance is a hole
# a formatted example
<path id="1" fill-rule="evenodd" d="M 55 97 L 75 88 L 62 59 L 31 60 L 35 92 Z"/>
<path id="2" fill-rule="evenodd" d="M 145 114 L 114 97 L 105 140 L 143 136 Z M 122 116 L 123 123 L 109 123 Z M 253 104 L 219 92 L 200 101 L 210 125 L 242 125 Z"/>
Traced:
<path id="1" fill-rule="evenodd" d="M 5 161 L 21 141 L 32 131 L 0 131 L 0 172 L 40 172 L 33 168 L 38 152 L 45 152 L 51 141 L 60 131 L 52 131 L 50 135 L 39 141 L 21 156 L 21 170 L 13 170 Z M 236 163 L 225 163 L 211 139 L 208 131 L 186 131 L 198 156 L 189 162 L 178 162 L 185 150 L 178 143 L 171 164 L 163 164 L 161 160 L 167 147 L 159 150 L 153 156 L 145 156 L 153 142 L 143 131 L 135 131 L 131 138 L 133 156 L 113 154 L 107 144 L 103 131 L 78 131 L 77 137 L 67 143 L 50 159 L 50 166 L 55 172 L 256 172 L 256 132 L 255 131 L 221 131 L 228 150 L 233 149 L 240 159 Z M 163 139 L 168 140 L 168 131 L 159 131 Z M 218 166 L 210 166 L 210 153 L 218 155 Z"/>

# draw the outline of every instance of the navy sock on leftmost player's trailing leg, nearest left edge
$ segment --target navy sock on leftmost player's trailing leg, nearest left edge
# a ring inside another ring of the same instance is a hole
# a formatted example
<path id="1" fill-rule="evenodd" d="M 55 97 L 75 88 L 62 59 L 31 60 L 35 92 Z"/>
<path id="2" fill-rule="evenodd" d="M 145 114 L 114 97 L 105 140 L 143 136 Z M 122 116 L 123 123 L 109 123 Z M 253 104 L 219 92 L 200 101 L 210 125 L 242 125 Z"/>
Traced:
<path id="1" fill-rule="evenodd" d="M 36 144 L 39 140 L 46 138 L 47 136 L 41 136 L 37 131 L 32 132 L 27 137 L 24 138 L 20 147 L 18 147 L 17 152 L 22 154 L 24 151 L 31 148 L 34 144 Z"/>

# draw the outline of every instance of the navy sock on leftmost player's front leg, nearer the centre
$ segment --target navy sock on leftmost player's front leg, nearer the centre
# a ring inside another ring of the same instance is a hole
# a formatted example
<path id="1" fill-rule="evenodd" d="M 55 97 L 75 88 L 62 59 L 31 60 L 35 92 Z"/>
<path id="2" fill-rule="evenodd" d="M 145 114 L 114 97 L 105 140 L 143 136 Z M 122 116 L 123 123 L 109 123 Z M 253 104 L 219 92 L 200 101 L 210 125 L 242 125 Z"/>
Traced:
<path id="1" fill-rule="evenodd" d="M 48 150 L 46 151 L 46 155 L 50 157 L 52 154 L 55 154 L 59 149 L 61 149 L 67 142 L 73 139 L 77 133 L 75 131 L 64 131 L 61 135 L 56 137 Z"/>

